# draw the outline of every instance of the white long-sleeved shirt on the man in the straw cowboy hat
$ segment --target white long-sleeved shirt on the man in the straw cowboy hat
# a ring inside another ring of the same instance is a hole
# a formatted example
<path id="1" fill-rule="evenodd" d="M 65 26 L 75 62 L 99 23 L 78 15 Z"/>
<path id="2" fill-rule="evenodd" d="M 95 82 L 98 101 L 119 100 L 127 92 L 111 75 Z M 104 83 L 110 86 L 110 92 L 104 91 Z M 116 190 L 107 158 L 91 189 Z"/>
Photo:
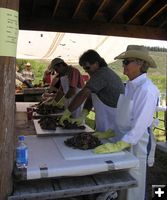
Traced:
<path id="1" fill-rule="evenodd" d="M 153 121 L 159 91 L 146 74 L 142 74 L 125 87 L 125 96 L 133 101 L 131 111 L 131 129 L 123 136 L 122 140 L 137 144 Z"/>

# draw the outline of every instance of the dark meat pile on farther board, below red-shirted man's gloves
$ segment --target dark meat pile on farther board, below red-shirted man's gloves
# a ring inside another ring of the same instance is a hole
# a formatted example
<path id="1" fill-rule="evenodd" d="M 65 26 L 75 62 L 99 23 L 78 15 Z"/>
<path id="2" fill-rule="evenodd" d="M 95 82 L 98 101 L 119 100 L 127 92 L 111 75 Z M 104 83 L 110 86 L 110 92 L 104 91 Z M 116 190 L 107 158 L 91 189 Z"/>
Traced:
<path id="1" fill-rule="evenodd" d="M 61 113 L 64 111 L 64 108 L 58 108 L 53 105 L 45 105 L 45 104 L 39 104 L 36 108 L 36 112 L 40 115 L 48 115 L 48 114 L 56 114 Z"/>

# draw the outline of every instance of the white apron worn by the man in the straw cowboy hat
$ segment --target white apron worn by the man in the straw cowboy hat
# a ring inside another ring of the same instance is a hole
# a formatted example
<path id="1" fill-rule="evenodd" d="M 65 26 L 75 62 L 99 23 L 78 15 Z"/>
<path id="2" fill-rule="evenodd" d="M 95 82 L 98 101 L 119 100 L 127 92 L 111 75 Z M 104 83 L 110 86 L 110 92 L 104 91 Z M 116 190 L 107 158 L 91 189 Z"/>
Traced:
<path id="1" fill-rule="evenodd" d="M 132 127 L 130 120 L 132 107 L 133 101 L 124 95 L 120 95 L 117 106 L 116 124 L 118 125 L 117 129 L 121 132 L 122 136 Z M 146 131 L 140 141 L 131 147 L 130 151 L 139 159 L 139 167 L 130 169 L 131 175 L 138 182 L 138 187 L 128 189 L 127 200 L 144 200 L 145 198 L 148 142 L 149 134 Z M 152 151 L 153 150 L 151 149 L 150 153 L 152 153 Z M 150 162 L 152 162 L 152 160 L 150 160 Z"/>

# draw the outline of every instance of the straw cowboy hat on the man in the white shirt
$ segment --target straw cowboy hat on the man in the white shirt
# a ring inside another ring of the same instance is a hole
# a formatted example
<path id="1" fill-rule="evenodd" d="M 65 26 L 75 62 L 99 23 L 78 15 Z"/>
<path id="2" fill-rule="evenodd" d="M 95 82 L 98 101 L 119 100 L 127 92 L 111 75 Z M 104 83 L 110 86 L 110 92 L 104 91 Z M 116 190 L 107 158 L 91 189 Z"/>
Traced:
<path id="1" fill-rule="evenodd" d="M 121 53 L 119 56 L 116 56 L 114 59 L 125 59 L 125 58 L 138 58 L 144 60 L 148 63 L 148 67 L 156 68 L 157 65 L 149 55 L 149 52 L 146 47 L 139 45 L 128 45 L 125 52 Z"/>

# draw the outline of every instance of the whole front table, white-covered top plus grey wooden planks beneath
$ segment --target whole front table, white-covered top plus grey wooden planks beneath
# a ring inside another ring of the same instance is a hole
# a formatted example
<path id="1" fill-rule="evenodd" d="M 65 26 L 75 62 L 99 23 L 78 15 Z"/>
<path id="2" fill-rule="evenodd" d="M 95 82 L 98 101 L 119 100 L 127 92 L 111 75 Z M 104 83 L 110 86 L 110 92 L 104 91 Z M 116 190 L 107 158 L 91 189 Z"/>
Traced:
<path id="1" fill-rule="evenodd" d="M 18 177 L 15 174 L 17 181 L 8 200 L 60 199 L 137 186 L 129 170 L 139 163 L 130 152 L 96 155 L 65 146 L 67 137 L 26 136 L 28 167 L 18 170 Z"/>

